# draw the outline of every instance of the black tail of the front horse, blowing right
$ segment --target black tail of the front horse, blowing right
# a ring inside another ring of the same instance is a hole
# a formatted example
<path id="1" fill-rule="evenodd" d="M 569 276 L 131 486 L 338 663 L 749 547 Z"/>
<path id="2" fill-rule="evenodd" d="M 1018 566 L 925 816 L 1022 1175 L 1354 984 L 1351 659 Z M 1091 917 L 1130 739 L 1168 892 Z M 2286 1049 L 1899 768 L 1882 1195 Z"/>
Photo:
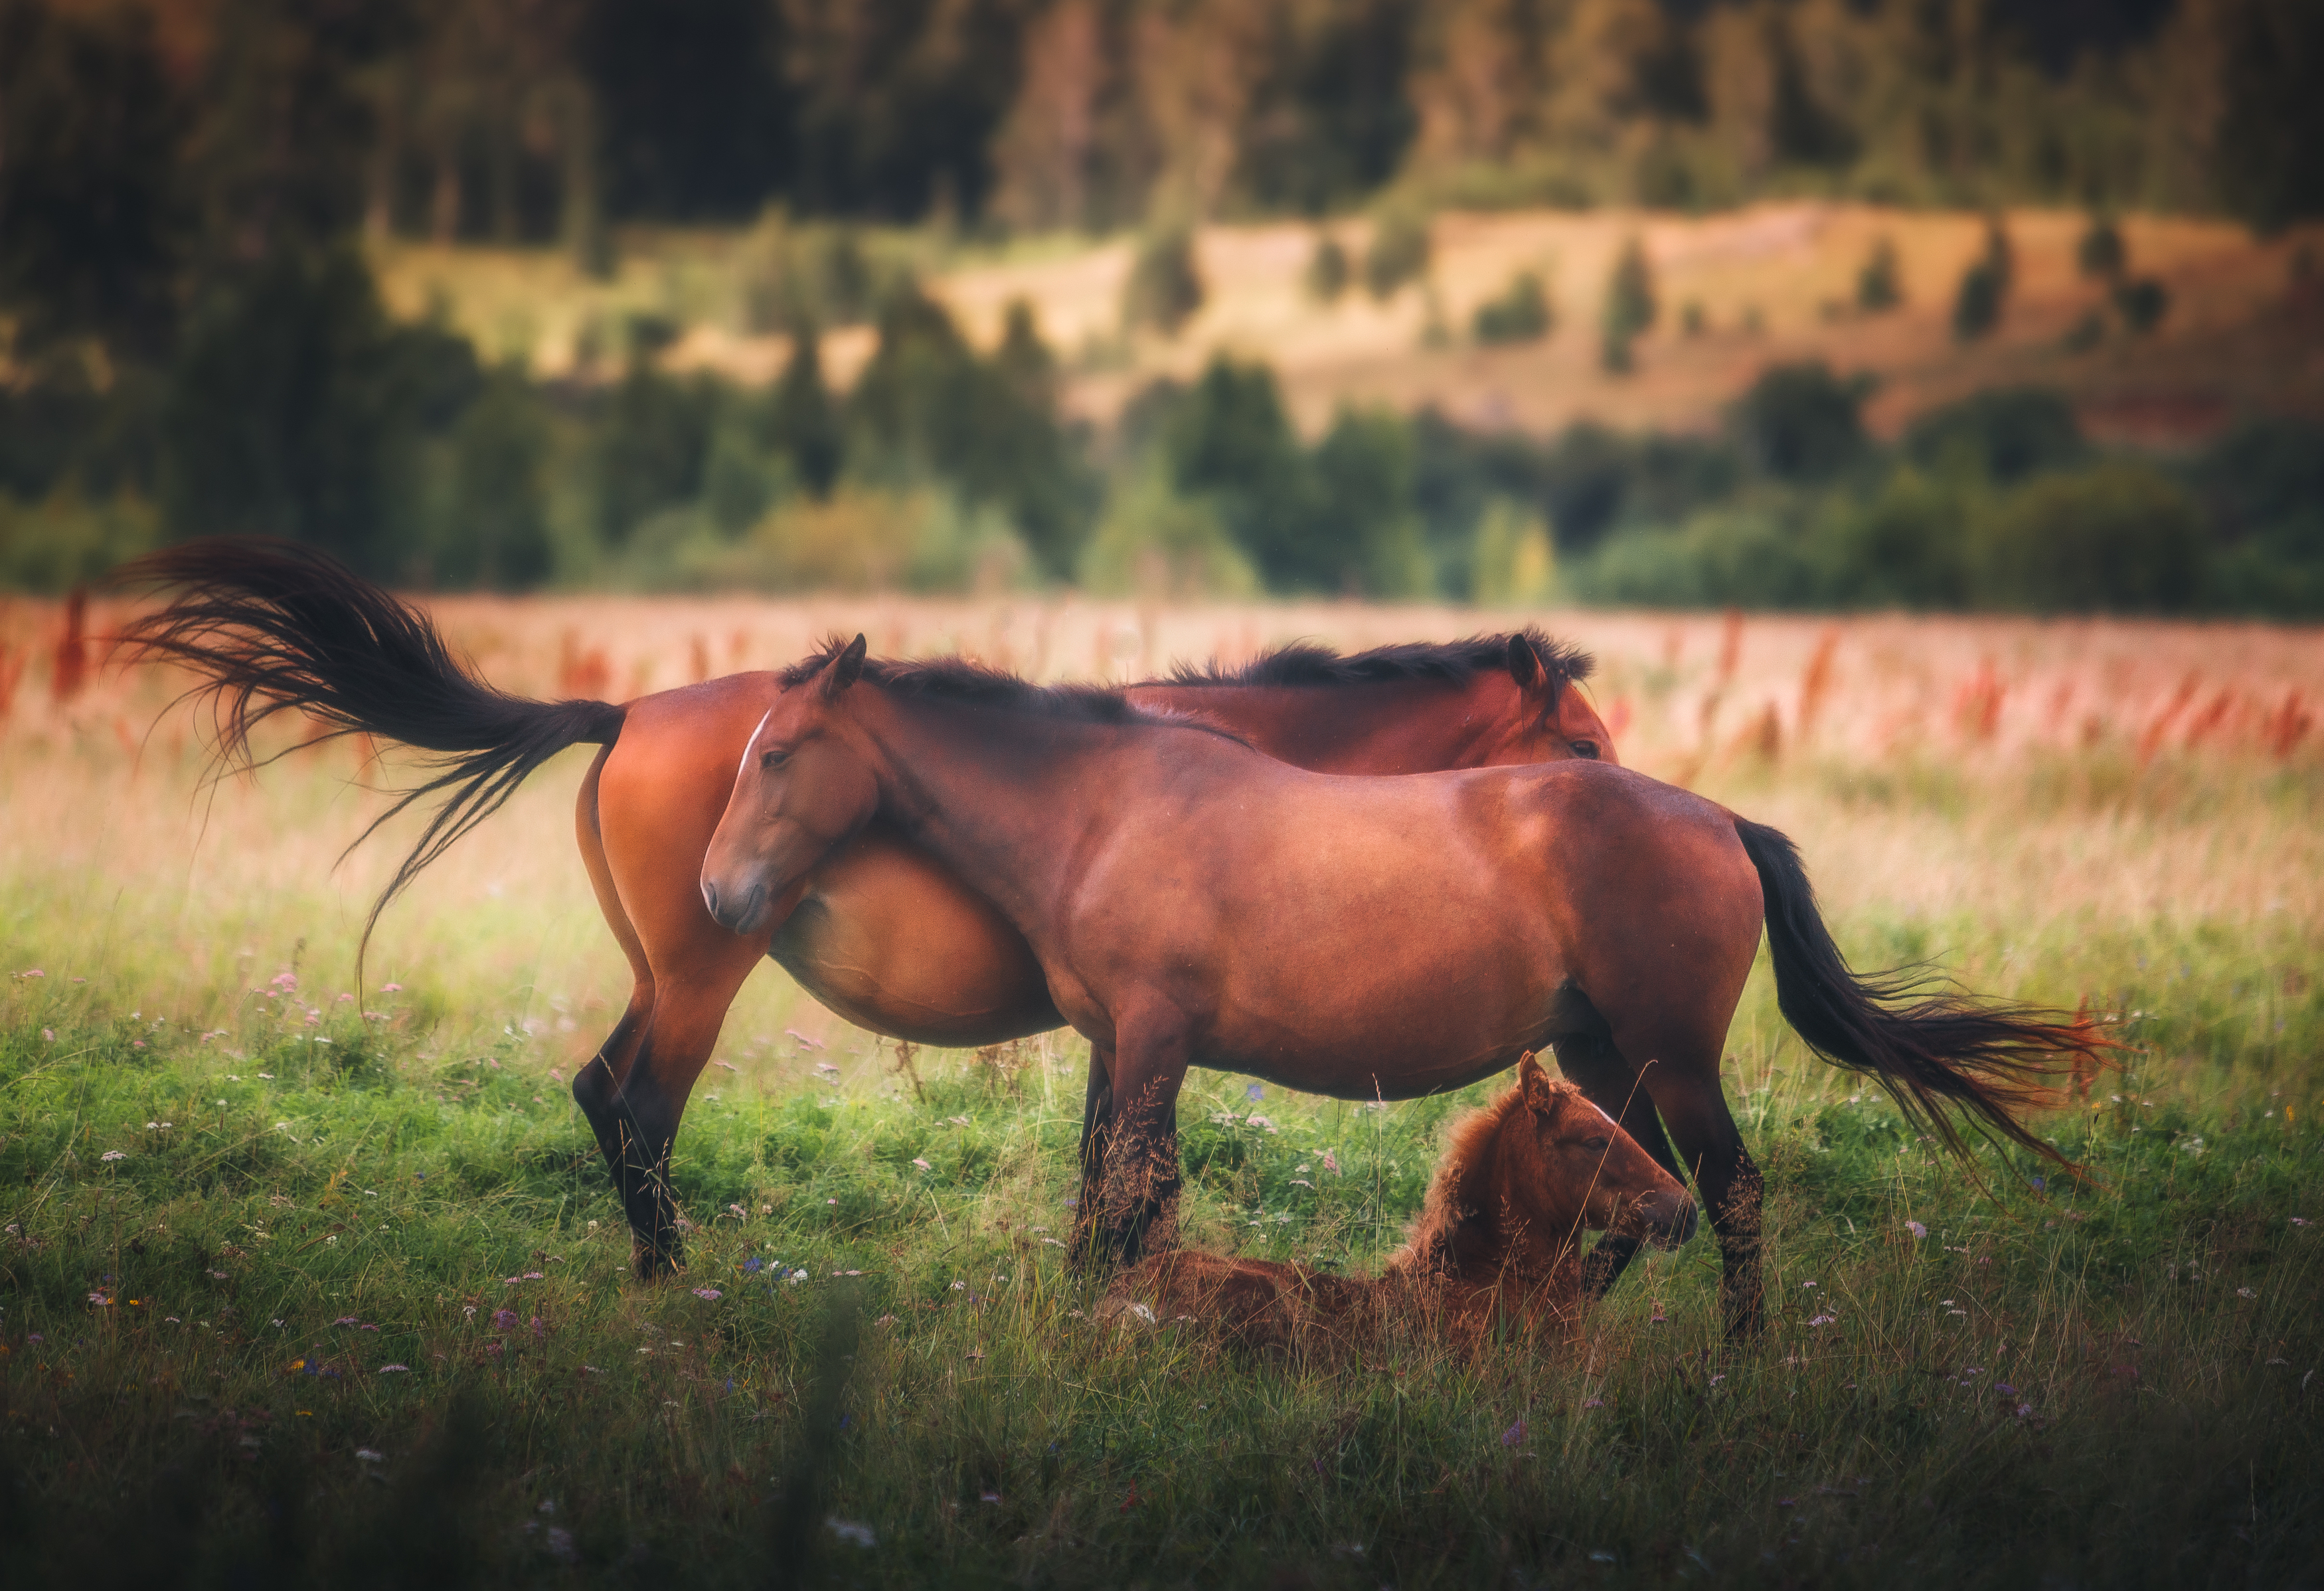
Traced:
<path id="1" fill-rule="evenodd" d="M 2119 1045 L 2087 1020 L 1931 992 L 1920 969 L 1864 978 L 1848 969 L 1815 908 L 1799 848 L 1766 825 L 1734 820 L 1759 871 L 1766 943 L 1783 1020 L 1834 1066 L 1875 1080 L 1906 1120 L 1961 1152 L 1952 1110 L 1973 1124 L 2071 1166 L 2020 1113 L 2054 1106 L 2054 1078 L 2073 1061 L 2110 1064 Z"/>

